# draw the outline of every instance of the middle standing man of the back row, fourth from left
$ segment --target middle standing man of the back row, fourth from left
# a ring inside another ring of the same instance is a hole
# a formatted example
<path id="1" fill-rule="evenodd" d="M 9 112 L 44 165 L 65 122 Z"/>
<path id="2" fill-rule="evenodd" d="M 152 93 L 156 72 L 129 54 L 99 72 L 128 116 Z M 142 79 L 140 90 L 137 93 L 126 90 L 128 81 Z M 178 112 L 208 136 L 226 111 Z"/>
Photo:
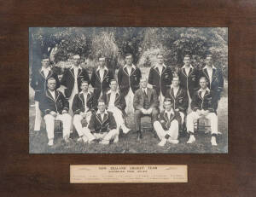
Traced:
<path id="1" fill-rule="evenodd" d="M 125 67 L 120 67 L 118 72 L 118 83 L 120 93 L 125 96 L 126 113 L 133 111 L 133 96 L 136 90 L 140 87 L 140 78 L 142 72 L 138 67 L 132 64 L 132 55 L 125 55 Z"/>

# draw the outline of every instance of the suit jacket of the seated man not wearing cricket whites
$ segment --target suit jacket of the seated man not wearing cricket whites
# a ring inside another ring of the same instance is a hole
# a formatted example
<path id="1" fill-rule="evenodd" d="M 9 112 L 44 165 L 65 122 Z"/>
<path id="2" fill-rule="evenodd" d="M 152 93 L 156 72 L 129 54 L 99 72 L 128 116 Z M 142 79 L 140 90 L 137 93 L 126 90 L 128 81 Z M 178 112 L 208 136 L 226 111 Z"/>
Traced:
<path id="1" fill-rule="evenodd" d="M 151 108 L 159 108 L 160 102 L 154 89 L 147 88 L 148 101 Z M 143 89 L 136 90 L 133 97 L 133 107 L 135 110 L 143 108 L 145 101 L 145 94 Z"/>

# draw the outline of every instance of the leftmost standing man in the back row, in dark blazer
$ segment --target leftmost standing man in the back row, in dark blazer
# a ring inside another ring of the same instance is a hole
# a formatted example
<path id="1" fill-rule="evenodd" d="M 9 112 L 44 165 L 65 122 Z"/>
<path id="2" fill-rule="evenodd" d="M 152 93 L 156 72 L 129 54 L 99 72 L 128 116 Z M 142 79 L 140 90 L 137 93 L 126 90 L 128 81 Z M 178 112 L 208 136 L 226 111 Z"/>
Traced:
<path id="1" fill-rule="evenodd" d="M 35 125 L 34 130 L 40 130 L 41 126 L 41 112 L 39 110 L 39 102 L 41 100 L 42 94 L 47 89 L 47 79 L 48 78 L 55 78 L 55 85 L 56 88 L 60 87 L 60 82 L 58 76 L 50 69 L 49 67 L 49 57 L 47 55 L 43 55 L 42 61 L 42 68 L 32 73 L 32 80 L 31 80 L 31 87 L 35 90 L 35 107 L 36 107 L 36 118 L 35 118 Z"/>

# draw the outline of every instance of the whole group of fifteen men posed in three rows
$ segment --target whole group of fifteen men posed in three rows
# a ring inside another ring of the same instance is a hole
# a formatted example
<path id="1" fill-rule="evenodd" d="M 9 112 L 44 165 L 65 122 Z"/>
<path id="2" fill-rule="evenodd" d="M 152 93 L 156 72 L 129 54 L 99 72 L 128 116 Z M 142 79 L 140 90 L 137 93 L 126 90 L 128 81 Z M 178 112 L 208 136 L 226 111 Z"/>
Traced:
<path id="1" fill-rule="evenodd" d="M 31 87 L 35 90 L 36 117 L 34 130 L 40 130 L 44 119 L 48 145 L 54 145 L 55 120 L 62 122 L 65 142 L 77 130 L 78 142 L 109 144 L 119 142 L 119 132 L 131 131 L 125 125 L 127 114 L 133 114 L 137 141 L 143 138 L 141 118 L 151 117 L 158 145 L 177 144 L 179 133 L 186 130 L 187 143 L 195 142 L 194 125 L 197 119 L 208 119 L 211 144 L 217 146 L 217 108 L 224 88 L 222 72 L 213 66 L 208 54 L 205 65 L 197 69 L 189 55 L 183 67 L 175 72 L 164 63 L 164 55 L 156 55 L 148 76 L 142 76 L 131 54 L 125 55 L 125 66 L 117 74 L 106 66 L 106 58 L 98 59 L 91 75 L 80 66 L 80 56 L 72 55 L 72 66 L 56 73 L 49 66 L 49 57 L 42 58 L 42 67 L 32 73 Z M 93 91 L 89 91 L 89 85 Z M 61 91 L 60 86 L 64 87 Z M 150 88 L 149 88 L 150 87 Z"/>

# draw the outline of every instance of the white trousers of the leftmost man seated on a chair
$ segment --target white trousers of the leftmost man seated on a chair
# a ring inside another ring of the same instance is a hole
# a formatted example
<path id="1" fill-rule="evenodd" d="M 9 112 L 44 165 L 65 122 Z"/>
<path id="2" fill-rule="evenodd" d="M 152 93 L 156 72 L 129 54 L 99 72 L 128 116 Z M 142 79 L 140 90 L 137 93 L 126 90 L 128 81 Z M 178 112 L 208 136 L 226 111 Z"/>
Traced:
<path id="1" fill-rule="evenodd" d="M 48 139 L 53 139 L 55 136 L 55 119 L 61 120 L 61 122 L 63 123 L 63 138 L 69 137 L 72 119 L 71 116 L 68 113 L 58 114 L 56 117 L 50 114 L 46 114 L 44 116 L 44 121 L 46 125 Z"/>

